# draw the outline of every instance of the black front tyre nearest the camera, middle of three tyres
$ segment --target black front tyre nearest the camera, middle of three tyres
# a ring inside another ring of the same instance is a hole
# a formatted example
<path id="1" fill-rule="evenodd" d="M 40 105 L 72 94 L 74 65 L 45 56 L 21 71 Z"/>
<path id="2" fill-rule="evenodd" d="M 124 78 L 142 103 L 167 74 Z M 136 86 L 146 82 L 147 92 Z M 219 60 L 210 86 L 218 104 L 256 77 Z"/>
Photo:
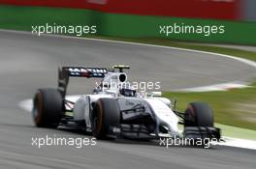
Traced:
<path id="1" fill-rule="evenodd" d="M 120 123 L 120 108 L 116 99 L 98 99 L 91 115 L 93 136 L 106 139 L 111 127 Z"/>

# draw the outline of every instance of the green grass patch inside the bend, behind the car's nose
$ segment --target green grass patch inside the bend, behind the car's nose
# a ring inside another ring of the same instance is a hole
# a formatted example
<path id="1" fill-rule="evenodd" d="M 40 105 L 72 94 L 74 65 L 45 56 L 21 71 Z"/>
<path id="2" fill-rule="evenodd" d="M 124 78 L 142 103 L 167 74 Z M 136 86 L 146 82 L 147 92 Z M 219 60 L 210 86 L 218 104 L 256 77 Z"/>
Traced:
<path id="1" fill-rule="evenodd" d="M 164 97 L 178 100 L 178 109 L 184 110 L 191 101 L 204 101 L 214 110 L 218 124 L 235 127 L 256 128 L 256 83 L 251 88 L 234 89 L 228 92 L 164 93 Z"/>

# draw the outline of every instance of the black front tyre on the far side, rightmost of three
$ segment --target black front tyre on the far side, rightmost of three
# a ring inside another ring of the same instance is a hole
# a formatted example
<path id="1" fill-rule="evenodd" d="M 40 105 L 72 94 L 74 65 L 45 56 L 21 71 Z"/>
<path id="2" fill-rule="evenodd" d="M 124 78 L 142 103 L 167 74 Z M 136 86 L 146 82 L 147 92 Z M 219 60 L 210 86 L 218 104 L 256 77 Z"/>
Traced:
<path id="1" fill-rule="evenodd" d="M 208 104 L 190 103 L 185 110 L 184 127 L 213 127 L 213 112 Z"/>

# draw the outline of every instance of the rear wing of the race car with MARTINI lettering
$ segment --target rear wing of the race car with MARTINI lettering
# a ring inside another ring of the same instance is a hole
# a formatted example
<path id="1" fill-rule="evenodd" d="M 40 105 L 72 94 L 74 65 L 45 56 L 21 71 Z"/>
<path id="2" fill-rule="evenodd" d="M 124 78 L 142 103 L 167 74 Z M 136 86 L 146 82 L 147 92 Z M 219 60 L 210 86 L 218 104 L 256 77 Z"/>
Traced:
<path id="1" fill-rule="evenodd" d="M 108 73 L 105 68 L 82 68 L 82 67 L 62 67 L 58 69 L 58 90 L 65 99 L 69 77 L 95 77 L 104 78 Z"/>

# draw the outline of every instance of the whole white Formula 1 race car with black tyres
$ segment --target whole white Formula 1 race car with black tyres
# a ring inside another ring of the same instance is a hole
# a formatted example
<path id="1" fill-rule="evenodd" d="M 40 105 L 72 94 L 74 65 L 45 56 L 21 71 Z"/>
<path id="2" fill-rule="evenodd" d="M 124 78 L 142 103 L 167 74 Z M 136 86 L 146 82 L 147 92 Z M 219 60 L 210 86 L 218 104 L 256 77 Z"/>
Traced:
<path id="1" fill-rule="evenodd" d="M 176 110 L 176 101 L 148 95 L 127 87 L 128 66 L 105 68 L 64 67 L 58 70 L 57 89 L 39 89 L 33 99 L 33 120 L 37 127 L 65 127 L 71 124 L 92 132 L 97 139 L 162 137 L 216 138 L 208 104 L 192 102 L 184 112 Z M 66 99 L 69 77 L 102 78 L 91 95 Z M 117 85 L 111 85 L 115 83 Z M 178 124 L 184 126 L 179 132 Z"/>

